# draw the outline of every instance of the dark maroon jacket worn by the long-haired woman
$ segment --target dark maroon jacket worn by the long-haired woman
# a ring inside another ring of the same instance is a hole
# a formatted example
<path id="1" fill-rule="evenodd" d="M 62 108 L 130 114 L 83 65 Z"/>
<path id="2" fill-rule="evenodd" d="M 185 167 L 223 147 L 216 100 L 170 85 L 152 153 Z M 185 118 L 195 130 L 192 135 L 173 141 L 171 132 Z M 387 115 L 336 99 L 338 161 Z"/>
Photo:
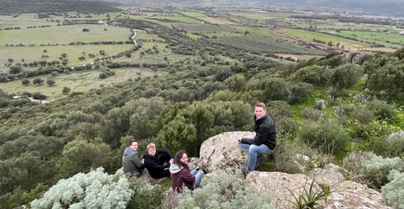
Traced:
<path id="1" fill-rule="evenodd" d="M 195 176 L 191 174 L 189 169 L 172 163 L 172 165 L 169 167 L 169 172 L 171 173 L 171 186 L 174 191 L 181 193 L 184 191 L 184 186 L 193 190 Z"/>

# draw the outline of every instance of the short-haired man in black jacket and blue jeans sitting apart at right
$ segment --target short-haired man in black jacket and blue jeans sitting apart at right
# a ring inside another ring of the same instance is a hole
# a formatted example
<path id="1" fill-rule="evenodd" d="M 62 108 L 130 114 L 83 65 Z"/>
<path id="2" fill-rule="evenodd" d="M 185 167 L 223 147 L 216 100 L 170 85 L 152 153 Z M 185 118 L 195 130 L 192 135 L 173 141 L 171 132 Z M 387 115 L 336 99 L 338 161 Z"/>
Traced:
<path id="1" fill-rule="evenodd" d="M 248 153 L 247 173 L 257 169 L 264 161 L 264 155 L 271 153 L 276 145 L 275 124 L 266 114 L 263 102 L 254 105 L 254 131 L 255 136 L 240 137 L 237 141 L 237 145 Z"/>

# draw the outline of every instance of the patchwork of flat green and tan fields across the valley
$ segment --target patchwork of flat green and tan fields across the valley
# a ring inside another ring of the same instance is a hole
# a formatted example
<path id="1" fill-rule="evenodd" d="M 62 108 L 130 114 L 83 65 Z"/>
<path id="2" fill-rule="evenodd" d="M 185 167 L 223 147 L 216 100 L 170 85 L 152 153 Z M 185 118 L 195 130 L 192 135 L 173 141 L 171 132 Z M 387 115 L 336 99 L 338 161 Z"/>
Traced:
<path id="1" fill-rule="evenodd" d="M 38 18 L 37 14 L 27 13 L 18 16 L 0 16 L 0 73 L 8 73 L 16 63 L 28 64 L 34 61 L 61 61 L 61 54 L 68 60 L 67 66 L 84 66 L 94 59 L 123 54 L 133 49 L 130 37 L 133 29 L 116 26 L 115 18 L 132 18 L 164 27 L 181 30 L 194 41 L 203 38 L 218 46 L 231 46 L 252 52 L 252 54 L 276 54 L 271 60 L 285 62 L 276 57 L 310 59 L 328 52 L 316 49 L 315 42 L 332 43 L 332 49 L 394 51 L 403 46 L 404 36 L 391 25 L 371 25 L 340 23 L 337 20 L 291 18 L 285 12 L 230 11 L 214 13 L 206 11 L 145 11 L 142 13 L 77 13 L 66 12 L 62 16 Z M 111 23 L 106 24 L 107 20 Z M 96 24 L 89 24 L 93 21 Z M 100 22 L 99 22 L 100 21 Z M 63 24 L 69 23 L 69 24 Z M 152 34 L 152 28 L 136 30 L 135 40 L 141 48 L 130 52 L 129 56 L 118 56 L 113 61 L 129 64 L 201 63 L 199 56 L 176 54 L 169 49 L 167 37 Z M 328 33 L 327 33 L 328 32 Z M 109 44 L 94 44 L 110 42 Z M 116 44 L 118 42 L 118 44 Z M 111 44 L 112 43 L 112 44 Z M 313 44 L 314 43 L 314 44 Z M 335 47 L 338 43 L 339 47 Z M 375 47 L 377 45 L 384 47 Z M 102 52 L 102 53 L 101 53 Z M 128 54 L 127 54 L 128 55 Z M 221 57 L 221 62 L 233 60 Z M 213 66 L 208 64 L 208 66 Z M 33 71 L 38 66 L 24 66 L 24 71 Z M 148 72 L 148 73 L 147 73 Z M 158 73 L 164 72 L 164 69 Z M 148 68 L 119 68 L 116 76 L 102 80 L 99 71 L 59 74 L 56 85 L 21 85 L 21 80 L 0 83 L 0 89 L 10 92 L 38 90 L 50 97 L 60 95 L 64 86 L 83 91 L 101 84 L 118 83 L 128 78 L 153 76 L 158 74 Z M 125 76 L 126 75 L 126 76 Z M 47 76 L 40 76 L 47 79 Z M 94 83 L 90 81 L 93 80 Z"/>

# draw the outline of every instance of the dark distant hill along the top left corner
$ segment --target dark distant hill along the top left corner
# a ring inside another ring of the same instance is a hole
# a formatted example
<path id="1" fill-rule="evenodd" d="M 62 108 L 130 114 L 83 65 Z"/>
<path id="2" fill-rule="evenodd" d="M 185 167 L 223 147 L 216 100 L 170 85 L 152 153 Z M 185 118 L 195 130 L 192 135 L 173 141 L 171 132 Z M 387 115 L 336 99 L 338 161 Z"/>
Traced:
<path id="1" fill-rule="evenodd" d="M 0 13 L 44 13 L 80 11 L 103 13 L 120 11 L 118 3 L 80 0 L 0 0 Z"/>

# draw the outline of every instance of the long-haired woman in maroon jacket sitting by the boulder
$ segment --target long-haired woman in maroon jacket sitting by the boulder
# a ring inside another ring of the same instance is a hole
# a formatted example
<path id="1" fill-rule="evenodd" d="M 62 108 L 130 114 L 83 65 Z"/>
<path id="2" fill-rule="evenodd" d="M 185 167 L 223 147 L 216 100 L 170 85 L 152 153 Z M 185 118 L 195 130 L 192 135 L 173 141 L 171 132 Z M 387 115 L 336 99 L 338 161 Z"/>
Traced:
<path id="1" fill-rule="evenodd" d="M 184 186 L 188 189 L 196 189 L 201 183 L 202 177 L 205 174 L 202 169 L 193 171 L 188 167 L 188 155 L 184 150 L 180 150 L 174 157 L 174 162 L 169 167 L 171 173 L 171 186 L 174 191 L 182 193 Z"/>

